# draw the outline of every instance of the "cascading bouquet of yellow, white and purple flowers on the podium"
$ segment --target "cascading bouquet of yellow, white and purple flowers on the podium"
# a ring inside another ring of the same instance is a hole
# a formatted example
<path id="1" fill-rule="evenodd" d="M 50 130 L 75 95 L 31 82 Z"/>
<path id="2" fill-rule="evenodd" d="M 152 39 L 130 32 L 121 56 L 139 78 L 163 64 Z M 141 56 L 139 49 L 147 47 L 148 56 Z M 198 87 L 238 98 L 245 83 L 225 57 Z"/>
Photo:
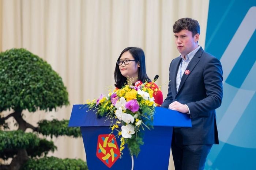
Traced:
<path id="1" fill-rule="evenodd" d="M 157 106 L 153 93 L 159 89 L 153 90 L 151 85 L 154 84 L 142 84 L 138 81 L 134 86 L 125 85 L 121 89 L 110 91 L 107 96 L 101 94 L 97 100 L 87 102 L 89 110 L 95 109 L 98 116 L 106 116 L 111 120 L 110 134 L 114 130 L 118 131 L 117 137 L 120 137 L 121 142 L 120 155 L 127 144 L 130 154 L 138 157 L 140 145 L 144 144 L 141 130 L 153 128 L 154 111 Z"/>

